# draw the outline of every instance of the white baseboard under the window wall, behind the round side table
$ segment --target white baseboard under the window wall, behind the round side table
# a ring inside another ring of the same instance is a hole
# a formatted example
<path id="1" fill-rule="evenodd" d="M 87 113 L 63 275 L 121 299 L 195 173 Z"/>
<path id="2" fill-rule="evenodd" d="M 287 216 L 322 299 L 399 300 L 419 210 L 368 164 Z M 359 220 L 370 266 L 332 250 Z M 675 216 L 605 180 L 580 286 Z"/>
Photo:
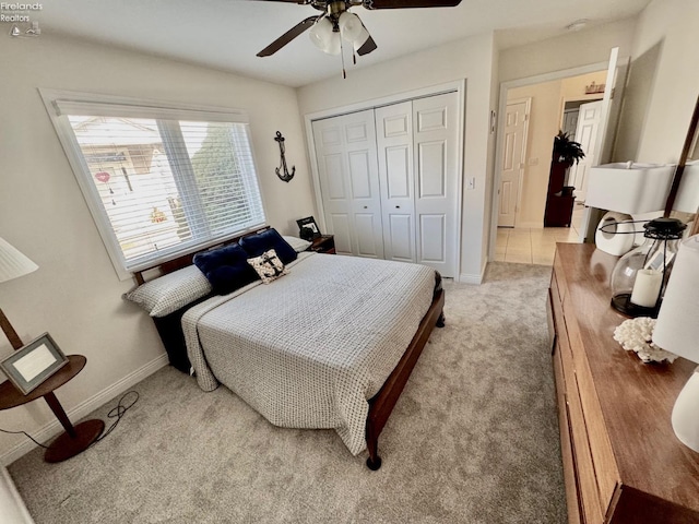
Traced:
<path id="1" fill-rule="evenodd" d="M 163 354 L 159 357 L 151 360 L 145 366 L 137 369 L 132 373 L 127 374 L 123 379 L 115 382 L 109 388 L 102 390 L 96 395 L 78 404 L 75 407 L 67 412 L 68 417 L 71 419 L 71 421 L 80 420 L 81 418 L 90 415 L 98 407 L 103 406 L 109 400 L 114 398 L 120 393 L 123 393 L 129 388 L 138 384 L 143 379 L 150 377 L 155 371 L 167 365 L 167 354 Z M 58 421 L 58 419 L 55 418 L 38 431 L 32 431 L 32 437 L 34 437 L 39 442 L 48 442 L 51 438 L 56 437 L 61 431 L 63 431 L 63 427 Z M 34 448 L 36 448 L 36 444 L 29 439 L 25 439 L 14 448 L 3 453 L 0 456 L 0 464 L 8 466 L 20 458 L 22 455 L 32 451 Z"/>

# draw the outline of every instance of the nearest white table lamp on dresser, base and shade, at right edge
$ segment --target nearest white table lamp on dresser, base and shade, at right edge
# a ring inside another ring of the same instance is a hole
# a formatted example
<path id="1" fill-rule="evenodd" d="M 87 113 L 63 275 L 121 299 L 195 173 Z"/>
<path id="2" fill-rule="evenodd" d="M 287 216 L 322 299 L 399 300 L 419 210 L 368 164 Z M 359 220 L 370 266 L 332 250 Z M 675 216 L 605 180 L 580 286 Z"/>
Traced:
<path id="1" fill-rule="evenodd" d="M 699 364 L 699 235 L 679 245 L 653 331 L 653 343 Z M 675 401 L 672 415 L 677 438 L 699 452 L 699 368 Z"/>

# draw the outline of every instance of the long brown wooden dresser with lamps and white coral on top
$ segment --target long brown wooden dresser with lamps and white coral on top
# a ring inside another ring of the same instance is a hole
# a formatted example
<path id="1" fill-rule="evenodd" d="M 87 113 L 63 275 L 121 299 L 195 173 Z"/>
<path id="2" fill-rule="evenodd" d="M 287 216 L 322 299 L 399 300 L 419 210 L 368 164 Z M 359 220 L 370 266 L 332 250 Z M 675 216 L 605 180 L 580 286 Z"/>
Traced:
<path id="1" fill-rule="evenodd" d="M 614 341 L 616 258 L 558 243 L 548 318 L 570 523 L 699 523 L 699 453 L 671 425 L 695 365 L 645 365 Z M 698 341 L 699 343 L 699 341 Z M 699 404 L 697 416 L 699 416 Z"/>

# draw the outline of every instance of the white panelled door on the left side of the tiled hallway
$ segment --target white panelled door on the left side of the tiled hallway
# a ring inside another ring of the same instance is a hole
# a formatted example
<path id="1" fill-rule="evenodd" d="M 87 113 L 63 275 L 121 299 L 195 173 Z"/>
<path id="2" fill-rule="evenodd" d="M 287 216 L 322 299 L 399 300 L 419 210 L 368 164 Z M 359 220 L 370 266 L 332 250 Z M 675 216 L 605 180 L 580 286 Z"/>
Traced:
<path id="1" fill-rule="evenodd" d="M 531 98 L 511 100 L 505 114 L 502 170 L 500 171 L 498 226 L 514 227 L 524 176 L 526 127 Z"/>

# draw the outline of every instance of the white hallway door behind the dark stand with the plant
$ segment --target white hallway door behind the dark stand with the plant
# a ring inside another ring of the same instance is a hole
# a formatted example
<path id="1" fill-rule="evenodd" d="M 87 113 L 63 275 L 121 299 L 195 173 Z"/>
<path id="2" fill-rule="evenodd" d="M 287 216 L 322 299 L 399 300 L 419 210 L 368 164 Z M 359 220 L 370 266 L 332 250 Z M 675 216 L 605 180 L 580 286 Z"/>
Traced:
<path id="1" fill-rule="evenodd" d="M 599 154 L 596 141 L 600 136 L 601 118 L 602 102 L 591 102 L 580 106 L 574 141 L 580 143 L 585 156 L 578 164 L 573 164 L 570 167 L 568 186 L 576 188 L 576 199 L 582 202 L 584 202 L 588 193 L 590 168 L 597 165 L 595 155 Z"/>

